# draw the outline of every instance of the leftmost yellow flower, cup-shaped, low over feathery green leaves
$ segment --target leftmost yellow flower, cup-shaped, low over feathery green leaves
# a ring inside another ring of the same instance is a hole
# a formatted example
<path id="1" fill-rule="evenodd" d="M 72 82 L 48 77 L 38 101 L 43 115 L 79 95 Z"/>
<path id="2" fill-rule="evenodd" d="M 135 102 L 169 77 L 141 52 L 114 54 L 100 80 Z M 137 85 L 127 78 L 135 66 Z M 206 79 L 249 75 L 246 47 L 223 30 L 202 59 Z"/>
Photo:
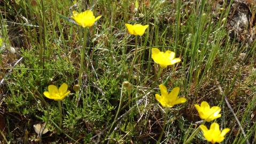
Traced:
<path id="1" fill-rule="evenodd" d="M 59 89 L 55 85 L 49 85 L 48 86 L 48 91 L 44 92 L 43 94 L 45 95 L 46 98 L 53 99 L 53 100 L 63 100 L 69 93 L 70 91 L 67 91 L 67 84 L 63 83 Z"/>

